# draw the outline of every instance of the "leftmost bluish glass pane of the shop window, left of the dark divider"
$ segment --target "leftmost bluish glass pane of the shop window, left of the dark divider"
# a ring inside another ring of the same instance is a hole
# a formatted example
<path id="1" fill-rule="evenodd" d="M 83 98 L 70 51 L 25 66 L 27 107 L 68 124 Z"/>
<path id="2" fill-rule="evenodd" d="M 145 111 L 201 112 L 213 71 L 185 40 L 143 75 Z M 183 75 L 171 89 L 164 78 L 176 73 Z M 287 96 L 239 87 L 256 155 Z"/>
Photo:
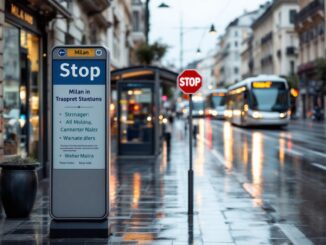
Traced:
<path id="1" fill-rule="evenodd" d="M 4 153 L 16 155 L 20 153 L 20 128 L 23 123 L 20 121 L 18 28 L 5 24 L 3 45 Z"/>

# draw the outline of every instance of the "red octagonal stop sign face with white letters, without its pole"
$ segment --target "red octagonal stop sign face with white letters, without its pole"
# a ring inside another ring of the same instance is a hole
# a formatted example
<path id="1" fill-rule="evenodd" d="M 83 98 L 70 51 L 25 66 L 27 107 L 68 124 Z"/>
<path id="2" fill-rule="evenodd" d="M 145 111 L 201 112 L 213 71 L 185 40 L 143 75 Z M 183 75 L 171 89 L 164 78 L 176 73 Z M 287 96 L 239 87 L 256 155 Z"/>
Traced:
<path id="1" fill-rule="evenodd" d="M 184 94 L 194 94 L 203 85 L 203 78 L 196 70 L 184 70 L 178 76 L 178 87 Z"/>

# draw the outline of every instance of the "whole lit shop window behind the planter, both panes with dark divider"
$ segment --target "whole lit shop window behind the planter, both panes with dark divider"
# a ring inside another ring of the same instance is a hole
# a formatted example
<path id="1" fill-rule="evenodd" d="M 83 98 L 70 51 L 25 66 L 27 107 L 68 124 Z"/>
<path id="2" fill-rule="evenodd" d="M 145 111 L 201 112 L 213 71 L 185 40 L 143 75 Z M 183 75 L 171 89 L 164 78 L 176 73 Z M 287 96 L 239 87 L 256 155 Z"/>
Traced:
<path id="1" fill-rule="evenodd" d="M 40 39 L 4 27 L 4 154 L 39 159 Z"/>

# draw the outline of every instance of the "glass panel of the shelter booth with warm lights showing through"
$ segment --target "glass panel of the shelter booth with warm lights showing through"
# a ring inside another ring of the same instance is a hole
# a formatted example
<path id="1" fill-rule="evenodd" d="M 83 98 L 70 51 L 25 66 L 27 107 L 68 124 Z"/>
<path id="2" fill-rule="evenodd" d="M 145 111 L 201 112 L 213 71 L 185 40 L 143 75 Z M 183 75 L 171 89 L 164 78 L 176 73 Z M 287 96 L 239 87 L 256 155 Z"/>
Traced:
<path id="1" fill-rule="evenodd" d="M 152 88 L 124 87 L 120 98 L 121 143 L 150 143 L 153 138 Z"/>

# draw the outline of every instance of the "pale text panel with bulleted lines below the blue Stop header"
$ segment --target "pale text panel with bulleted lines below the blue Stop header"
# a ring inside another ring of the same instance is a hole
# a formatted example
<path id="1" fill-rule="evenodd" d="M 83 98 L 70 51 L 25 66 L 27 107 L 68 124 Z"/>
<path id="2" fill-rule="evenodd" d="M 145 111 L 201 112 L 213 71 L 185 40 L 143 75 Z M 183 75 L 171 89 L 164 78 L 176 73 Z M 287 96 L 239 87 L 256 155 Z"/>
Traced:
<path id="1" fill-rule="evenodd" d="M 105 86 L 53 88 L 53 168 L 105 168 Z"/>

